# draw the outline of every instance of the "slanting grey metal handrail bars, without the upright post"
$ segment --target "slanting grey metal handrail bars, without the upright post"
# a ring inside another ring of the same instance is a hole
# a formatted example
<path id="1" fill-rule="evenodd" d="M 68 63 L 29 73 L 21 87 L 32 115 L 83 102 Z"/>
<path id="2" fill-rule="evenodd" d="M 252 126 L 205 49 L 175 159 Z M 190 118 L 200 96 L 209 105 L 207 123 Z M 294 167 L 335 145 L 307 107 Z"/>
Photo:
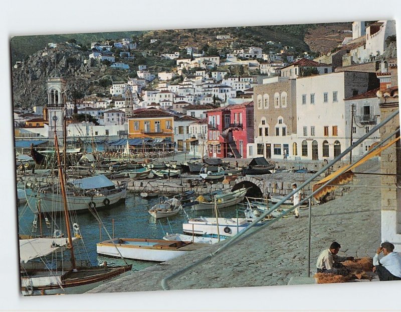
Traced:
<path id="1" fill-rule="evenodd" d="M 192 264 L 180 269 L 177 272 L 174 272 L 172 274 L 170 274 L 167 277 L 164 277 L 161 280 L 161 286 L 163 288 L 163 290 L 168 290 L 169 286 L 167 284 L 167 281 L 170 280 L 173 277 L 179 276 L 182 273 L 184 273 L 185 271 L 189 270 L 190 268 L 197 266 L 209 259 L 211 259 L 213 256 L 215 256 L 217 253 L 219 253 L 220 251 L 225 250 L 227 247 L 229 247 L 230 245 L 232 245 L 233 243 L 236 243 L 239 241 L 239 237 L 244 237 L 244 234 L 246 232 L 248 232 L 251 228 L 253 228 L 255 226 L 255 224 L 257 224 L 259 221 L 263 220 L 267 215 L 269 215 L 271 212 L 273 212 L 274 210 L 276 210 L 281 204 L 283 204 L 288 198 L 290 198 L 291 196 L 293 196 L 296 192 L 300 191 L 301 189 L 303 189 L 306 185 L 308 185 L 310 182 L 313 181 L 313 179 L 315 179 L 316 177 L 318 177 L 320 174 L 322 174 L 324 171 L 326 171 L 327 169 L 329 169 L 332 165 L 334 165 L 337 161 L 341 160 L 341 158 L 343 158 L 346 154 L 348 154 L 348 152 L 350 152 L 351 150 L 353 150 L 355 147 L 359 146 L 359 144 L 361 142 L 363 142 L 366 138 L 368 138 L 370 135 L 372 135 L 374 132 L 376 132 L 378 129 L 380 129 L 382 126 L 384 126 L 385 124 L 387 124 L 391 119 L 393 119 L 395 116 L 397 116 L 399 113 L 399 110 L 395 110 L 394 112 L 392 112 L 390 115 L 388 115 L 384 120 L 382 120 L 378 125 L 376 125 L 372 130 L 370 130 L 368 133 L 366 133 L 365 135 L 363 135 L 359 140 L 357 140 L 355 143 L 353 143 L 350 147 L 348 147 L 345 151 L 343 151 L 340 155 L 338 155 L 337 157 L 335 157 L 333 160 L 331 160 L 326 166 L 324 166 L 322 169 L 318 170 L 314 175 L 312 175 L 311 177 L 309 177 L 308 179 L 305 180 L 305 182 L 303 182 L 300 186 L 298 186 L 297 188 L 295 188 L 294 190 L 292 190 L 289 194 L 287 194 L 286 196 L 284 196 L 279 202 L 277 202 L 275 205 L 273 205 L 273 207 L 271 209 L 269 209 L 268 211 L 264 212 L 260 217 L 256 218 L 254 220 L 254 222 L 252 222 L 248 227 L 245 228 L 245 230 L 237 233 L 235 236 L 233 236 L 230 240 L 228 240 L 223 246 L 219 247 L 216 251 L 212 252 L 210 255 L 206 256 L 205 258 L 202 258 L 196 262 L 193 262 Z M 396 134 L 399 131 L 399 129 L 397 129 L 396 131 L 394 131 L 389 137 L 387 137 L 386 139 L 382 140 L 377 146 L 375 146 L 373 149 L 371 149 L 369 151 L 369 153 L 373 152 L 376 148 L 378 148 L 378 146 L 381 146 L 384 142 L 386 142 L 387 140 L 389 140 L 394 134 Z M 368 154 L 369 154 L 368 153 Z M 364 157 L 365 155 L 363 155 L 362 157 Z M 348 166 L 348 168 L 350 168 L 352 166 L 352 164 L 350 164 Z M 342 170 L 342 172 L 345 172 L 347 169 Z M 342 173 L 341 172 L 341 173 Z M 339 173 L 339 174 L 341 174 Z M 336 178 L 336 176 L 334 176 L 332 179 Z M 289 209 L 288 211 L 284 211 L 282 214 L 280 214 L 279 217 L 267 222 L 265 225 L 263 225 L 260 228 L 265 228 L 267 226 L 270 226 L 272 223 L 278 221 L 279 219 L 281 219 L 283 216 L 287 215 L 288 213 L 290 213 L 291 211 L 293 211 L 296 207 L 298 207 L 302 202 L 304 202 L 306 199 L 308 199 L 309 197 L 311 197 L 313 194 L 315 194 L 316 192 L 318 192 L 320 189 L 322 189 L 324 186 L 326 186 L 327 184 L 329 184 L 331 182 L 330 179 L 329 181 L 327 181 L 326 183 L 324 183 L 321 187 L 319 187 L 317 190 L 315 190 L 314 192 L 312 192 L 312 194 L 310 194 L 307 198 L 304 198 L 303 200 L 301 200 L 297 205 L 294 205 L 292 207 L 292 209 Z M 253 233 L 258 232 L 258 230 L 260 229 L 256 229 Z M 248 236 L 248 235 L 247 235 Z M 247 237 L 246 236 L 246 237 Z"/>

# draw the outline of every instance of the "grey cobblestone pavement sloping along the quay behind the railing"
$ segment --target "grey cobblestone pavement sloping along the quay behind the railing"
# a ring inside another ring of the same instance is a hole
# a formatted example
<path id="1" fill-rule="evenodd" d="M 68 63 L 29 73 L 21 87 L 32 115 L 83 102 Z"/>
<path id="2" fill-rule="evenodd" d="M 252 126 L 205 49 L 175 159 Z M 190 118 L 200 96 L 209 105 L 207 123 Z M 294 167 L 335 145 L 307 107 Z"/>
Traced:
<path id="1" fill-rule="evenodd" d="M 380 244 L 380 188 L 375 188 L 376 185 L 380 185 L 379 177 L 357 175 L 350 184 L 349 193 L 313 206 L 311 276 L 316 271 L 319 252 L 334 240 L 342 245 L 339 255 L 374 256 Z M 206 257 L 218 247 L 208 246 L 133 272 L 90 292 L 161 290 L 162 278 Z M 170 289 L 285 285 L 290 277 L 307 276 L 307 259 L 308 210 L 304 209 L 301 218 L 289 216 L 279 220 L 168 284 Z"/>

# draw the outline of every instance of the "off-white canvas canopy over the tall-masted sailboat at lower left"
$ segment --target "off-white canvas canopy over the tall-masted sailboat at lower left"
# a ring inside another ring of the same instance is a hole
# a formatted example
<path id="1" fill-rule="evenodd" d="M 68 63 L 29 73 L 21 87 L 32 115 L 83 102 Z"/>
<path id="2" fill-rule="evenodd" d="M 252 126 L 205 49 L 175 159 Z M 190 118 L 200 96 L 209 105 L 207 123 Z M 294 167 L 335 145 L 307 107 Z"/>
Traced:
<path id="1" fill-rule="evenodd" d="M 73 237 L 75 241 L 77 237 Z M 55 251 L 59 251 L 67 246 L 67 238 L 30 238 L 20 239 L 20 261 L 28 262 L 29 260 L 36 259 L 50 255 Z"/>

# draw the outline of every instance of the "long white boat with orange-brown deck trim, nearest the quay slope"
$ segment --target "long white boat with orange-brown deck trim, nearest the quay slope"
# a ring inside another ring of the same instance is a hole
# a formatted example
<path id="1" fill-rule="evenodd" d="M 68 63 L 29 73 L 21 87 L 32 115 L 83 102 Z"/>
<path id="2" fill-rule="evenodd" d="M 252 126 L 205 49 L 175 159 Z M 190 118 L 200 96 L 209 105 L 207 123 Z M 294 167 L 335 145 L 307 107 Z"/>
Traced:
<path id="1" fill-rule="evenodd" d="M 128 259 L 164 262 L 205 246 L 183 241 L 116 238 L 96 244 L 96 251 L 112 257 L 122 255 Z"/>

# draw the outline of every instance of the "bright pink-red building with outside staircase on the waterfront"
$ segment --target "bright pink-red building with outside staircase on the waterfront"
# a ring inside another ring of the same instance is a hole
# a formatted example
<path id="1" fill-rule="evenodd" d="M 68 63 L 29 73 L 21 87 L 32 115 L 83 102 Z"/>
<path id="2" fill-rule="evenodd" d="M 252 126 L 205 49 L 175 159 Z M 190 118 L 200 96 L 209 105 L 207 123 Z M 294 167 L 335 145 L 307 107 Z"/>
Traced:
<path id="1" fill-rule="evenodd" d="M 208 111 L 207 116 L 209 157 L 246 157 L 247 144 L 254 143 L 253 101 Z"/>

